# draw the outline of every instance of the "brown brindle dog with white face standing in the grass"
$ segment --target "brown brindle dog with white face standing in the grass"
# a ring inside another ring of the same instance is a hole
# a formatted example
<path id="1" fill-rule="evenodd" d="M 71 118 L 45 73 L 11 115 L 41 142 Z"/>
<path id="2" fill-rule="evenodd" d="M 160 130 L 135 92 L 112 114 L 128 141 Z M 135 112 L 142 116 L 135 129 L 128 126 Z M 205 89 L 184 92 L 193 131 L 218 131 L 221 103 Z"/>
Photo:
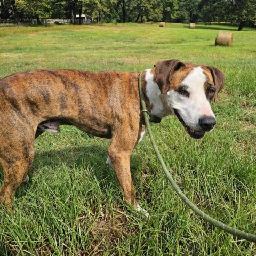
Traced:
<path id="1" fill-rule="evenodd" d="M 4 182 L 0 201 L 11 204 L 34 158 L 34 139 L 62 124 L 111 139 L 112 164 L 127 203 L 135 199 L 130 154 L 145 134 L 138 89 L 139 73 L 41 69 L 24 71 L 0 81 L 0 163 Z M 179 60 L 158 62 L 143 72 L 147 109 L 158 117 L 176 115 L 193 138 L 215 125 L 210 102 L 225 75 L 217 68 Z M 147 213 L 146 213 L 147 214 Z"/>

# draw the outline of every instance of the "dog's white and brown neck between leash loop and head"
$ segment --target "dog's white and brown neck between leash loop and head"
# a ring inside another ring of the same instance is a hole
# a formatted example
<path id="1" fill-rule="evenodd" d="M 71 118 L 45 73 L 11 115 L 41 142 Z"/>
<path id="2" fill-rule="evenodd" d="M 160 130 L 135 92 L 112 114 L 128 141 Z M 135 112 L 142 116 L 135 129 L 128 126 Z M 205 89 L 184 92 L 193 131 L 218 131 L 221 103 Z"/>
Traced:
<path id="1" fill-rule="evenodd" d="M 162 118 L 171 115 L 172 111 L 167 105 L 166 95 L 161 94 L 154 76 L 154 69 L 145 70 L 145 88 L 143 91 L 149 101 L 147 105 L 150 113 Z"/>

